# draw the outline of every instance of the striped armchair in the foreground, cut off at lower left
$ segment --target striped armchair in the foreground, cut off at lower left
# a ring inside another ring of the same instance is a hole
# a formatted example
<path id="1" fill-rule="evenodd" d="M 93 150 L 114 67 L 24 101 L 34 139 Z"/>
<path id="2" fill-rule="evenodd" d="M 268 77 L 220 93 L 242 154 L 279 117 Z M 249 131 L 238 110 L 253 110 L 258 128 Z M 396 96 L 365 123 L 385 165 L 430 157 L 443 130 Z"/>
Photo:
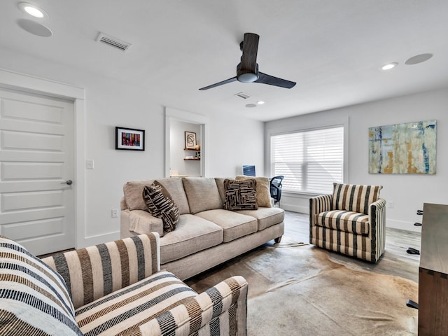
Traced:
<path id="1" fill-rule="evenodd" d="M 159 248 L 153 232 L 40 260 L 0 236 L 0 335 L 246 335 L 245 279 L 198 294 Z"/>

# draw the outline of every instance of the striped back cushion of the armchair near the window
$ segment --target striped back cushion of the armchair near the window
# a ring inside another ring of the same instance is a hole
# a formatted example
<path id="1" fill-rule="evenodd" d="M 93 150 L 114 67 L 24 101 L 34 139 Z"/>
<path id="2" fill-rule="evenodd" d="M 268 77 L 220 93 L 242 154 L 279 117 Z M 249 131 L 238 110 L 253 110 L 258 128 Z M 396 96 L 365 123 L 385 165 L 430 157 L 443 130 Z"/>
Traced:
<path id="1" fill-rule="evenodd" d="M 369 214 L 369 206 L 379 198 L 383 186 L 333 183 L 333 210 Z"/>

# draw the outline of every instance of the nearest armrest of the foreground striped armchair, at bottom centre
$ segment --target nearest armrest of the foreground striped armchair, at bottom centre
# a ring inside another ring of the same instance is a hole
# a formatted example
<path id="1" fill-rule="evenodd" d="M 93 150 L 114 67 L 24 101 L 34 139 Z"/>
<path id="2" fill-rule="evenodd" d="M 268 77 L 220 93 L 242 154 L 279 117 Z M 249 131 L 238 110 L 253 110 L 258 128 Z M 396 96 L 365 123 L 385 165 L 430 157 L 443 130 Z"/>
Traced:
<path id="1" fill-rule="evenodd" d="M 139 335 L 211 335 L 218 325 L 228 329 L 220 335 L 246 336 L 247 290 L 246 279 L 232 276 L 141 325 Z"/>

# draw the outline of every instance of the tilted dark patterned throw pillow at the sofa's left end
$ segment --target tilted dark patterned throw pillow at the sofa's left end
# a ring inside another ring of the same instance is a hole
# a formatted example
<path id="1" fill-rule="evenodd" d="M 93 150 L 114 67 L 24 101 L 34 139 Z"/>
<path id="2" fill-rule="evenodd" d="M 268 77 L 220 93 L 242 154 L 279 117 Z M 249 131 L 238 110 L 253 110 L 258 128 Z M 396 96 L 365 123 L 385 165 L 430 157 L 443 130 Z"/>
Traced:
<path id="1" fill-rule="evenodd" d="M 169 195 L 168 191 L 158 181 L 151 186 L 145 186 L 143 197 L 149 212 L 157 218 L 162 219 L 163 230 L 171 232 L 176 229 L 179 221 L 179 208 Z"/>

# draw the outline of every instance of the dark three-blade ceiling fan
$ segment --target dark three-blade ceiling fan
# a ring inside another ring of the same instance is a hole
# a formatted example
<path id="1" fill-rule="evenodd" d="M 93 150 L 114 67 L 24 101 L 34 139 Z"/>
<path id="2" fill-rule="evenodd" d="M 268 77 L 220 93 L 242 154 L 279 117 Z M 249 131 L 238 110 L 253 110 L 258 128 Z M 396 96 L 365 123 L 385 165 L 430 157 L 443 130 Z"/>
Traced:
<path id="1" fill-rule="evenodd" d="M 294 87 L 295 82 L 270 76 L 258 71 L 257 52 L 259 39 L 260 36 L 257 34 L 244 34 L 244 41 L 239 43 L 239 48 L 243 52 L 243 55 L 241 55 L 241 62 L 237 65 L 237 76 L 206 87 L 201 87 L 199 90 L 209 90 L 212 87 L 235 82 L 235 80 L 238 80 L 241 83 L 262 83 L 285 87 L 286 89 Z"/>

